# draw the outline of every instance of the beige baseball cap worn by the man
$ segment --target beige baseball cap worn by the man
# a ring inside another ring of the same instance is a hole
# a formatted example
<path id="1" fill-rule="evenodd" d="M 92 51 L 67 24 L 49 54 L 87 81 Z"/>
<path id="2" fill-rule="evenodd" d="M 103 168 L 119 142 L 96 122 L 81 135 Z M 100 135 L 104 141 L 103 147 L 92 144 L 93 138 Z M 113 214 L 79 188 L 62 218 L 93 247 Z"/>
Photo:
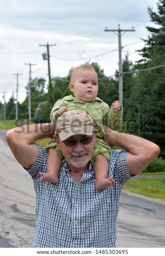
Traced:
<path id="1" fill-rule="evenodd" d="M 72 109 L 59 116 L 55 134 L 59 135 L 60 140 L 66 140 L 78 134 L 91 136 L 94 134 L 94 127 L 94 121 L 90 115 L 85 111 Z"/>

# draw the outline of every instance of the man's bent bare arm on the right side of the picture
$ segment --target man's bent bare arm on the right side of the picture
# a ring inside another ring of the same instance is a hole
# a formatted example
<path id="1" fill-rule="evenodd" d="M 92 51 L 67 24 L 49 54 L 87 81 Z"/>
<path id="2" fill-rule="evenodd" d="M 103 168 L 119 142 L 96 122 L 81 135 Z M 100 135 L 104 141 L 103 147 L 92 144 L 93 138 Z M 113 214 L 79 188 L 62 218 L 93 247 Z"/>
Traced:
<path id="1" fill-rule="evenodd" d="M 130 175 L 143 171 L 158 156 L 160 148 L 155 143 L 141 137 L 119 133 L 105 126 L 106 142 L 129 151 L 127 166 Z"/>

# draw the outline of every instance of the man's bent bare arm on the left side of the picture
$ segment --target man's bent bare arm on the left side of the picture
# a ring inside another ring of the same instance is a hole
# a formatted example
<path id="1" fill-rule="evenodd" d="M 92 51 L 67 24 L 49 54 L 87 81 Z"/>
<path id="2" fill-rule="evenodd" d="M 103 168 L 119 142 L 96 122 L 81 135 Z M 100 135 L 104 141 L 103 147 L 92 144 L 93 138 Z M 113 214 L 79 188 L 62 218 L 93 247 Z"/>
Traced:
<path id="1" fill-rule="evenodd" d="M 28 126 L 20 126 L 6 133 L 6 140 L 15 159 L 29 169 L 34 164 L 38 156 L 38 149 L 33 144 L 35 140 L 45 137 L 53 137 L 54 124 L 40 123 L 31 124 Z"/>

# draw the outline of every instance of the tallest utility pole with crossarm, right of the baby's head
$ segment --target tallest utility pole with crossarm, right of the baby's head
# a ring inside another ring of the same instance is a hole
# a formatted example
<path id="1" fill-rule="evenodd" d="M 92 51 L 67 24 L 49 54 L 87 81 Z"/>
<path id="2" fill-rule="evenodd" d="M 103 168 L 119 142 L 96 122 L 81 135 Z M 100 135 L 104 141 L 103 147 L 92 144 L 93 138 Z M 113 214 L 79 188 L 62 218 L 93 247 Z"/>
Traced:
<path id="1" fill-rule="evenodd" d="M 135 31 L 134 29 L 120 29 L 120 25 L 118 25 L 118 29 L 105 29 L 104 31 L 113 31 L 118 32 L 115 33 L 118 35 L 118 51 L 119 51 L 119 102 L 123 106 L 123 66 L 122 66 L 122 46 L 121 46 L 121 32 L 127 31 Z M 123 115 L 121 117 L 121 121 L 123 122 Z"/>

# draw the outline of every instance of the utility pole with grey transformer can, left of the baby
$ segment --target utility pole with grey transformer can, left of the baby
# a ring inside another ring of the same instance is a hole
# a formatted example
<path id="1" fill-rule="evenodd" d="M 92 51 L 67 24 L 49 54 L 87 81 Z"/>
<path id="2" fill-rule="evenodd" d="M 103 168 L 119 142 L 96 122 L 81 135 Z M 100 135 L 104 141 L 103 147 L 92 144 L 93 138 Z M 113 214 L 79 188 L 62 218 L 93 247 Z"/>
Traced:
<path id="1" fill-rule="evenodd" d="M 47 58 L 45 54 L 42 54 L 42 57 L 44 60 L 47 59 L 47 64 L 48 64 L 48 76 L 49 76 L 49 85 L 48 85 L 48 97 L 49 97 L 49 102 L 50 102 L 50 110 L 52 109 L 53 106 L 53 98 L 52 98 L 52 79 L 51 79 L 51 73 L 50 73 L 50 53 L 49 53 L 49 47 L 50 46 L 56 46 L 54 45 L 49 45 L 48 43 L 46 45 L 41 45 L 40 46 L 46 46 L 47 47 Z M 45 56 L 45 57 L 44 57 Z"/>

